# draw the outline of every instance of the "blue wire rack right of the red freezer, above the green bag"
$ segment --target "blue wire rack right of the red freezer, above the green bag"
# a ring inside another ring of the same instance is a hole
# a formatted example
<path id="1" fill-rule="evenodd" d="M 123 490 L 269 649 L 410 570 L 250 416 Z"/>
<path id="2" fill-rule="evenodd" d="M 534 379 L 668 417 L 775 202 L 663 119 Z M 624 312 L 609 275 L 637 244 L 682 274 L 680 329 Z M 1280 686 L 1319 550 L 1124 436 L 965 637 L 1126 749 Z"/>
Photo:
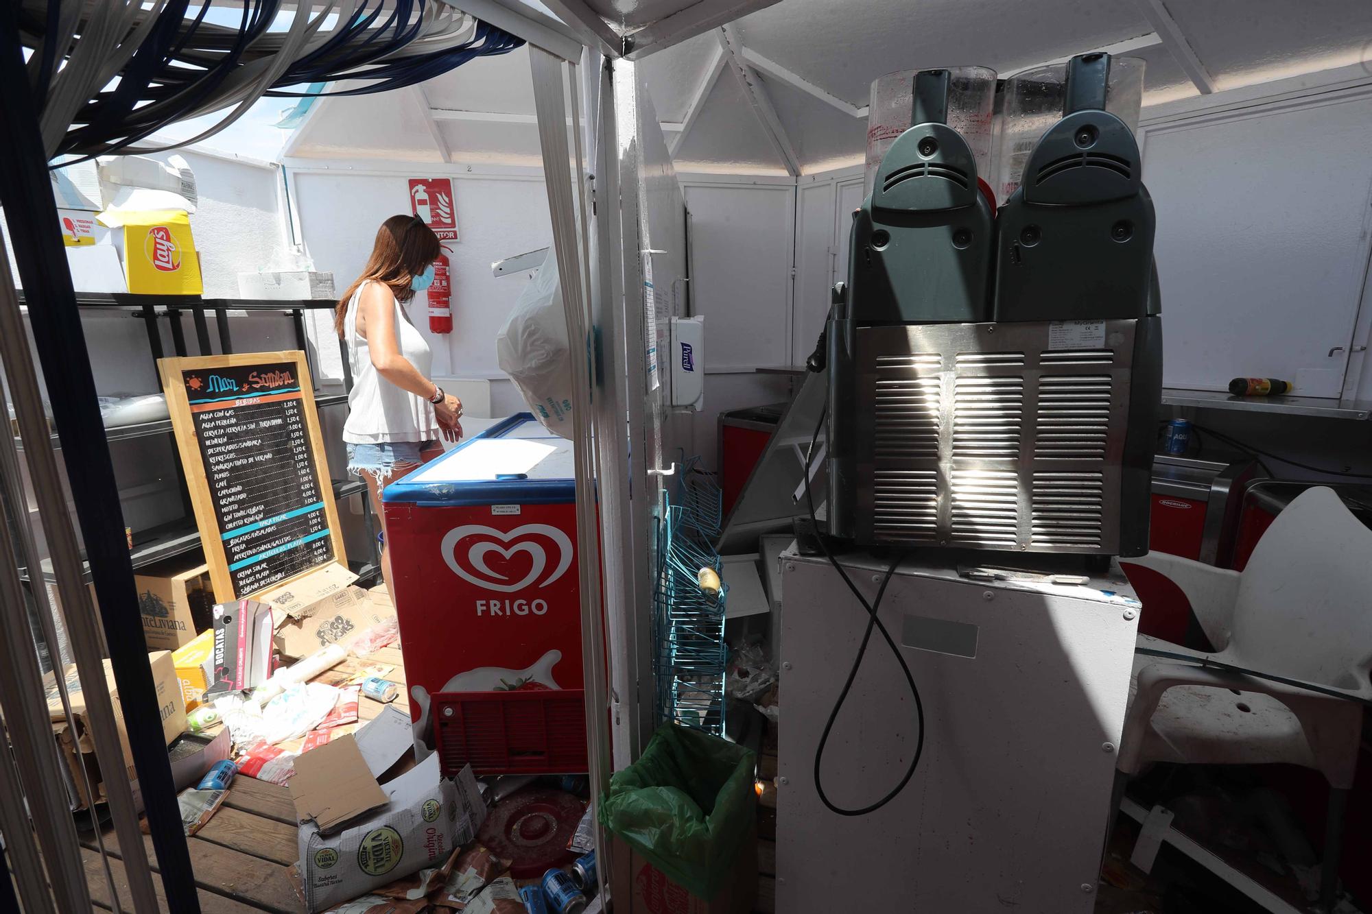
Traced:
<path id="1" fill-rule="evenodd" d="M 702 523 L 691 506 L 665 506 L 653 600 L 653 674 L 660 722 L 722 734 L 729 586 L 713 586 L 722 563 L 708 528 L 709 520 Z"/>

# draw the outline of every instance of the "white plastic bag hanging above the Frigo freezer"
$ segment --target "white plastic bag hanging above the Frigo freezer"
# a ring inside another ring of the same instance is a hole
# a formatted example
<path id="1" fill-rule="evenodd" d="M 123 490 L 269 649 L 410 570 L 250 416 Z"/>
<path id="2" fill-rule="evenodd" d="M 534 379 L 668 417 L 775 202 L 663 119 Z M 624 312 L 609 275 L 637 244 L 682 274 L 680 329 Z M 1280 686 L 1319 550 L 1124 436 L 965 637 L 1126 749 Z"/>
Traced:
<path id="1" fill-rule="evenodd" d="M 554 435 L 571 439 L 571 346 L 557 255 L 552 250 L 495 335 L 495 358 L 538 421 Z"/>

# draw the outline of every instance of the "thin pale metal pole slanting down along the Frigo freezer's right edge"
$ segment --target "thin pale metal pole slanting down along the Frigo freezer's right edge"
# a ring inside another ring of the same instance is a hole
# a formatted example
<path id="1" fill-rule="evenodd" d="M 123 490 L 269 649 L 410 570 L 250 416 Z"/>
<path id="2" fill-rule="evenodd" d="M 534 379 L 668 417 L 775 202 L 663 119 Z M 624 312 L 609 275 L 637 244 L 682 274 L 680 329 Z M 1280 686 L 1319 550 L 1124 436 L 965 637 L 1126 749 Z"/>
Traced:
<path id="1" fill-rule="evenodd" d="M 539 48 L 530 48 L 534 75 L 534 110 L 538 113 L 538 139 L 543 152 L 543 181 L 547 207 L 553 215 L 553 251 L 561 276 L 563 309 L 567 335 L 573 353 L 584 353 L 590 342 L 589 318 L 578 250 L 576 206 L 571 151 L 567 143 L 567 107 L 563 102 L 563 63 Z M 586 742 L 591 781 L 591 804 L 597 807 L 597 847 L 605 847 L 598 819 L 600 795 L 609 788 L 609 704 L 605 693 L 605 626 L 600 586 L 600 524 L 595 516 L 594 435 L 591 427 L 591 372 L 586 358 L 572 358 L 572 452 L 576 462 L 576 557 L 580 574 L 582 668 L 586 671 Z M 613 434 L 613 430 L 609 432 Z M 601 885 L 612 882 L 606 865 L 598 858 Z"/>

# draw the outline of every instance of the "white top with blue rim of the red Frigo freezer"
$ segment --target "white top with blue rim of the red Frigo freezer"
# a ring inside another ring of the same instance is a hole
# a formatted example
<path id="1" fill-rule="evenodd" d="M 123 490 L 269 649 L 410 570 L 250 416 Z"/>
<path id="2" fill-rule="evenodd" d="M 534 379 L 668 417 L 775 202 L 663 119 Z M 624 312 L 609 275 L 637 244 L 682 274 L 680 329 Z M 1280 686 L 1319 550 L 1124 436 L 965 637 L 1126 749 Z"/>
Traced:
<path id="1" fill-rule="evenodd" d="M 541 434 L 539 434 L 541 432 Z M 572 442 L 519 413 L 384 489 L 386 504 L 552 505 L 576 500 Z"/>

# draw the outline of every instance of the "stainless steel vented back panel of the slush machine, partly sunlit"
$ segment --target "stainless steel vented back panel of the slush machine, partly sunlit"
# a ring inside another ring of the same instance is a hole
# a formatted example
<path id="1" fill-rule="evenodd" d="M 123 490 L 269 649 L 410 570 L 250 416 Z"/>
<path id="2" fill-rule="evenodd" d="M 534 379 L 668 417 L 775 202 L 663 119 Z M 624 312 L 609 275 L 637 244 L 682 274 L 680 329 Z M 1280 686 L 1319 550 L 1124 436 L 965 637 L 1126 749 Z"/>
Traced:
<path id="1" fill-rule="evenodd" d="M 836 405 L 860 413 L 859 538 L 1117 550 L 1135 321 L 1098 329 L 1051 349 L 1048 323 L 859 328 L 862 402 Z"/>

